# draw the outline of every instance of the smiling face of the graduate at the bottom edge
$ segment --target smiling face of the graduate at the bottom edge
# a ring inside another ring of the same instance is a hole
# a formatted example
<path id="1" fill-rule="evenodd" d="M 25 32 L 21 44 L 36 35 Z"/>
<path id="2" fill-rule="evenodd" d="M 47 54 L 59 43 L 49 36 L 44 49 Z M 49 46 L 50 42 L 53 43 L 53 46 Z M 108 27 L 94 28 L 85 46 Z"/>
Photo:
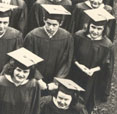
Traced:
<path id="1" fill-rule="evenodd" d="M 68 95 L 62 91 L 58 92 L 57 98 L 56 98 L 58 108 L 60 109 L 67 109 L 72 101 L 72 96 Z"/>

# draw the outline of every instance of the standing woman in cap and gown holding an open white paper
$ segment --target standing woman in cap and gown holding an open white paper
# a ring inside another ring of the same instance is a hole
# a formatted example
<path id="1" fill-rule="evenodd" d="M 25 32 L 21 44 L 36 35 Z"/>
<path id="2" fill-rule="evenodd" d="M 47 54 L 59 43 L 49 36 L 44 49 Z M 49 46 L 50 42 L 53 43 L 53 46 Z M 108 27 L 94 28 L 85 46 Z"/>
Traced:
<path id="1" fill-rule="evenodd" d="M 94 13 L 95 12 L 95 13 Z M 74 35 L 74 61 L 70 79 L 83 87 L 89 114 L 94 106 L 107 101 L 114 67 L 113 44 L 105 34 L 107 20 L 114 19 L 104 9 L 87 10 L 87 31 Z"/>

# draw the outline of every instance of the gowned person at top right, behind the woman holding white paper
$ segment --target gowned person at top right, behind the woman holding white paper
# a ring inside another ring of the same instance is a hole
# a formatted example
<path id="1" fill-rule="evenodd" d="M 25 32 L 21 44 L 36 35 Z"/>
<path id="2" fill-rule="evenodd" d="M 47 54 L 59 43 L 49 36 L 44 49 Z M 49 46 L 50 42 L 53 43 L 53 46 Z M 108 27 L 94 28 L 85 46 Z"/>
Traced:
<path id="1" fill-rule="evenodd" d="M 97 8 L 104 8 L 112 15 L 115 15 L 112 7 L 104 4 L 103 0 L 86 0 L 85 2 L 78 3 L 76 4 L 72 12 L 71 32 L 75 33 L 76 31 L 81 29 L 86 30 L 87 23 L 89 22 L 89 17 L 85 15 L 84 11 Z M 108 22 L 107 35 L 112 42 L 114 41 L 115 36 L 115 26 L 116 20 L 111 20 L 110 22 Z"/>

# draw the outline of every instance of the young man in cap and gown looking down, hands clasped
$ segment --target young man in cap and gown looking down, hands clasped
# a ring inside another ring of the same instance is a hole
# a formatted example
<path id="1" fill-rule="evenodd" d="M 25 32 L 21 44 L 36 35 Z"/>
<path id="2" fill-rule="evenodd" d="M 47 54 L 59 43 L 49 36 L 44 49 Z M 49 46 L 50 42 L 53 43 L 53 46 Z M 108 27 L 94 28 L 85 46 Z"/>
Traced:
<path id="1" fill-rule="evenodd" d="M 37 66 L 46 83 L 53 77 L 66 77 L 73 57 L 73 38 L 60 27 L 63 14 L 69 13 L 64 7 L 43 4 L 46 14 L 45 25 L 29 32 L 24 47 L 44 59 Z M 61 10 L 60 10 L 61 9 Z"/>

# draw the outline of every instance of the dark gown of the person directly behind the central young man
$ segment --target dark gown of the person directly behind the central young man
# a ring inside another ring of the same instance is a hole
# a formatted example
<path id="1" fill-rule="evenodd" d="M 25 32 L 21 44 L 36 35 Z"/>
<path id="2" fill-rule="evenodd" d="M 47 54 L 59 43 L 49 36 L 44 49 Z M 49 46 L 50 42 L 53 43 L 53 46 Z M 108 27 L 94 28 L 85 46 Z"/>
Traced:
<path id="1" fill-rule="evenodd" d="M 71 12 L 71 1 L 70 0 L 62 0 L 61 2 L 52 2 L 50 0 L 37 0 L 34 5 L 32 6 L 32 9 L 29 14 L 29 20 L 28 20 L 28 31 L 33 30 L 36 27 L 41 27 L 44 25 L 43 17 L 44 12 L 40 4 L 54 4 L 54 5 L 63 5 L 66 9 L 68 9 Z M 71 21 L 71 16 L 66 16 L 63 22 L 62 27 L 69 30 L 69 23 Z"/>

